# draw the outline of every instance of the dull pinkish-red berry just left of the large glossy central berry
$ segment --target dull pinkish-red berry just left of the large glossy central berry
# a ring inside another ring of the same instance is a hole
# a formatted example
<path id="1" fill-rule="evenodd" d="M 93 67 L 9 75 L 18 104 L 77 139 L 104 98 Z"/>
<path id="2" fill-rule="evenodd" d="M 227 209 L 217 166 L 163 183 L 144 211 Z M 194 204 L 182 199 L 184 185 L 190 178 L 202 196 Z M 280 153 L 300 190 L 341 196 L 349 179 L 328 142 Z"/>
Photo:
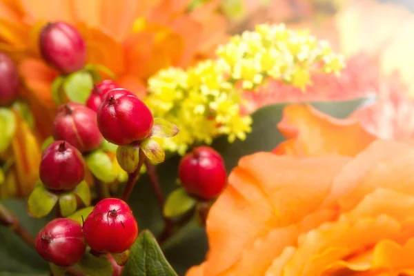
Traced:
<path id="1" fill-rule="evenodd" d="M 68 141 L 80 152 L 96 150 L 103 141 L 97 125 L 97 112 L 81 103 L 64 104 L 53 121 L 53 137 Z"/>

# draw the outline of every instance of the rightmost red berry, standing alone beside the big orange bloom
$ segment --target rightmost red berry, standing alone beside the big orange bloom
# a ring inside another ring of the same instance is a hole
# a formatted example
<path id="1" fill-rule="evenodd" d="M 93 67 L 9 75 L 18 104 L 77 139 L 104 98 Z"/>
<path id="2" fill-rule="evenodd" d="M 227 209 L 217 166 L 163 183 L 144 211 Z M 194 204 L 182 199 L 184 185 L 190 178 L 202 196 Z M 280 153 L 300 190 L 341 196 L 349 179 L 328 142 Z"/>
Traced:
<path id="1" fill-rule="evenodd" d="M 207 200 L 217 197 L 227 182 L 221 155 L 208 146 L 199 146 L 185 155 L 178 174 L 188 194 Z"/>

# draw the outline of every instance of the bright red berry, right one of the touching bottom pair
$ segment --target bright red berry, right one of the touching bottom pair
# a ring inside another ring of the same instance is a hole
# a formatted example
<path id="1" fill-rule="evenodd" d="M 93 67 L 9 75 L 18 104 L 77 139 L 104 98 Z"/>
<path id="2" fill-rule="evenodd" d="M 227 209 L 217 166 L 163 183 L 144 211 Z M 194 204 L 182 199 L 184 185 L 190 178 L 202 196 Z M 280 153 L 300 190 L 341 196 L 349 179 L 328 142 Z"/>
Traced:
<path id="1" fill-rule="evenodd" d="M 122 253 L 138 235 L 138 224 L 132 211 L 121 199 L 98 202 L 83 224 L 86 242 L 99 253 Z"/>

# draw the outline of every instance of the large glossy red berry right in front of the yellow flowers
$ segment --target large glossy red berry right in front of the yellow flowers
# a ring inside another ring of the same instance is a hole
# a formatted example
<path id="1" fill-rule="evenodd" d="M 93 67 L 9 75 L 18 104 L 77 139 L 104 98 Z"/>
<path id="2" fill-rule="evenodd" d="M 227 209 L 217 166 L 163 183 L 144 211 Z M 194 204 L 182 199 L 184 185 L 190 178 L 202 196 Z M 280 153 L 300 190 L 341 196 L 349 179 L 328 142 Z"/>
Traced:
<path id="1" fill-rule="evenodd" d="M 150 109 L 132 92 L 110 90 L 98 109 L 98 126 L 112 144 L 128 145 L 150 135 L 154 118 Z"/>

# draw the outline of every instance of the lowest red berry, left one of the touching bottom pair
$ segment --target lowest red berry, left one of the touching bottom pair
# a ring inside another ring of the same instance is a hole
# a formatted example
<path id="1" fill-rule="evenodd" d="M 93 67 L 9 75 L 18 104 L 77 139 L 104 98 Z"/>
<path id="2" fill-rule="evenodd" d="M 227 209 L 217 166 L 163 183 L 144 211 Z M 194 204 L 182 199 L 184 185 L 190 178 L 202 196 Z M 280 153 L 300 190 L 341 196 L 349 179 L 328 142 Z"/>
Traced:
<path id="1" fill-rule="evenodd" d="M 86 250 L 81 224 L 72 219 L 53 219 L 37 235 L 36 250 L 57 266 L 77 264 Z"/>

